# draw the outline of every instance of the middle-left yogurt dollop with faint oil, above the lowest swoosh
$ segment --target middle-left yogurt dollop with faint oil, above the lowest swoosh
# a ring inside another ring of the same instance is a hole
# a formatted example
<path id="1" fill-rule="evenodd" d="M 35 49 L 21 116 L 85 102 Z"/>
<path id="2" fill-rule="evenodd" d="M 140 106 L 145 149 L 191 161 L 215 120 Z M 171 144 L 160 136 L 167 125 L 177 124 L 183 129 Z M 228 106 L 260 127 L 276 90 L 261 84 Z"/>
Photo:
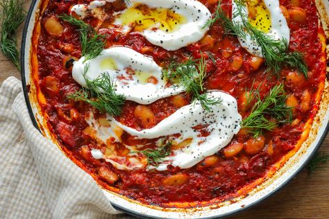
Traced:
<path id="1" fill-rule="evenodd" d="M 86 72 L 85 66 L 88 67 Z M 74 80 L 83 87 L 87 87 L 85 78 L 92 81 L 101 73 L 108 73 L 114 79 L 117 94 L 140 104 L 153 103 L 183 91 L 181 87 L 166 87 L 162 69 L 152 58 L 123 46 L 104 49 L 92 60 L 85 61 L 82 57 L 74 62 L 72 69 Z"/>

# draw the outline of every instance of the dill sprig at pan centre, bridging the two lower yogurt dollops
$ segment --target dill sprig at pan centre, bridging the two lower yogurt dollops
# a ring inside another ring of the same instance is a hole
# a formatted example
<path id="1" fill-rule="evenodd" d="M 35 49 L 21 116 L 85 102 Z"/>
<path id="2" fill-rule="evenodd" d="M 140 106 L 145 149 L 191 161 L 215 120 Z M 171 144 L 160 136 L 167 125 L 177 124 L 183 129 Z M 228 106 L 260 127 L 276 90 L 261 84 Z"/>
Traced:
<path id="1" fill-rule="evenodd" d="M 203 80 L 205 79 L 205 60 L 189 59 L 183 63 L 171 62 L 167 69 L 162 70 L 162 76 L 172 84 L 184 87 L 185 91 L 192 94 L 193 100 L 199 100 L 203 109 L 210 112 L 212 105 L 221 103 L 220 98 L 210 98 L 204 93 Z"/>

